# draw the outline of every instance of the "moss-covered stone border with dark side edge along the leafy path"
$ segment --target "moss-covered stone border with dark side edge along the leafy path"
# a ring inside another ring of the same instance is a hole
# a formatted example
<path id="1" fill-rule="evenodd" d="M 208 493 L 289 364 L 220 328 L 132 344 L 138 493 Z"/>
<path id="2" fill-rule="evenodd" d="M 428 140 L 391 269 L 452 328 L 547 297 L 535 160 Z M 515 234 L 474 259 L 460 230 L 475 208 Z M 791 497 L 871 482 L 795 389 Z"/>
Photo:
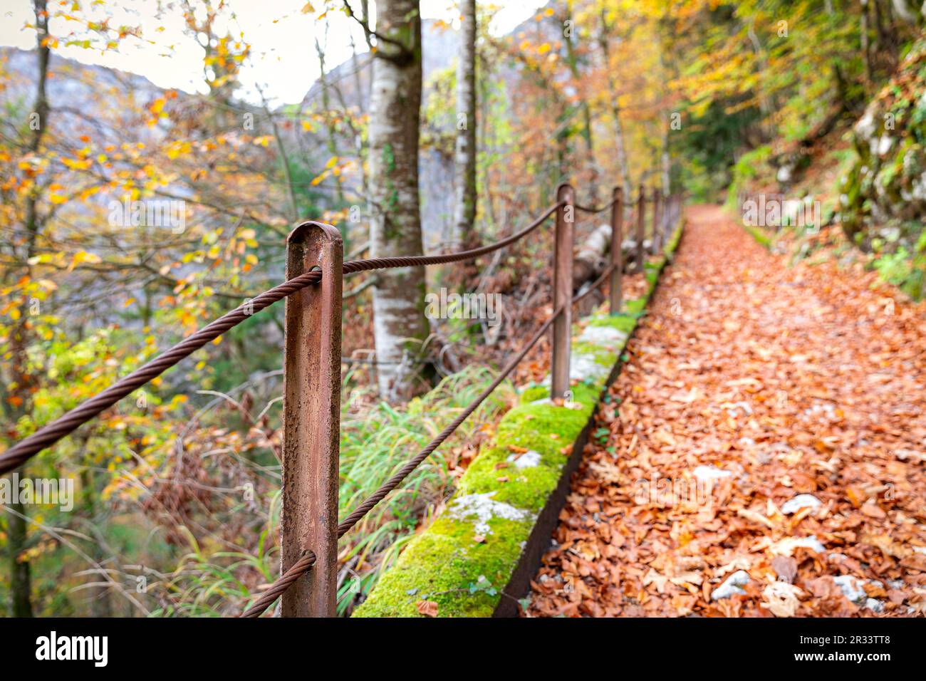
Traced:
<path id="1" fill-rule="evenodd" d="M 524 388 L 444 512 L 409 542 L 353 616 L 421 616 L 419 600 L 436 602 L 441 617 L 518 613 L 517 599 L 549 546 L 598 402 L 617 377 L 621 353 L 681 238 L 682 225 L 664 255 L 646 265 L 646 293 L 628 300 L 625 313 L 593 315 L 573 327 L 571 400 L 553 404 L 549 378 Z"/>

